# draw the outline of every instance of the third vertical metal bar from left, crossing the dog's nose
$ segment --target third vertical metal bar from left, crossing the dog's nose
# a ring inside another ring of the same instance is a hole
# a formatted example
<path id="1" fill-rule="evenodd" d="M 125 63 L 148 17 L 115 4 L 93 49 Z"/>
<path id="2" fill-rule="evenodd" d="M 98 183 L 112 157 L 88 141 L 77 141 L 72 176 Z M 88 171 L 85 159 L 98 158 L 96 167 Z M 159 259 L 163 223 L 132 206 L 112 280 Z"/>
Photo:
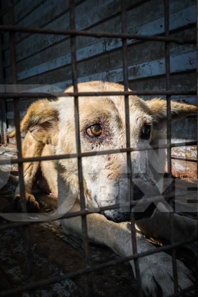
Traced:
<path id="1" fill-rule="evenodd" d="M 126 0 L 122 0 L 122 33 L 127 32 L 127 15 L 126 15 Z M 123 54 L 123 78 L 124 91 L 128 91 L 128 59 L 127 59 L 127 39 L 122 39 L 122 54 Z M 130 148 L 130 114 L 129 114 L 129 96 L 125 95 L 125 123 L 126 123 L 126 148 Z M 130 220 L 131 220 L 131 239 L 133 253 L 137 253 L 135 214 L 131 211 L 131 201 L 133 200 L 133 180 L 132 180 L 132 164 L 131 152 L 127 152 L 127 170 L 128 170 L 128 195 L 130 201 Z M 139 260 L 134 259 L 134 266 L 136 272 L 136 280 L 138 283 L 139 297 L 143 297 Z"/>

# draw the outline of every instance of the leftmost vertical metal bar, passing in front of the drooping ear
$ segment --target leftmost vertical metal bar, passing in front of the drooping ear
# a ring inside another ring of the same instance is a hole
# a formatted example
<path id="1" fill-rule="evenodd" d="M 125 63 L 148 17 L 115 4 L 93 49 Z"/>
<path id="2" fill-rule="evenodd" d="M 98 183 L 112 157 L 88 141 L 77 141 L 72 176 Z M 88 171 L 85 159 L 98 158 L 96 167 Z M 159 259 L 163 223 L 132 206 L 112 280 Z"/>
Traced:
<path id="1" fill-rule="evenodd" d="M 10 0 L 10 23 L 14 25 L 14 1 Z M 16 69 L 16 43 L 15 43 L 15 33 L 9 33 L 10 38 L 10 54 L 11 54 L 11 70 L 12 70 L 12 84 L 17 84 L 17 69 Z M 18 100 L 14 99 L 14 123 L 16 129 L 16 145 L 17 145 L 17 156 L 22 157 L 22 147 L 21 147 L 21 136 L 20 136 L 20 113 Z M 27 212 L 26 198 L 25 198 L 25 183 L 23 177 L 23 163 L 18 164 L 18 174 L 19 174 L 19 186 L 20 186 L 20 197 L 21 197 L 21 207 L 23 212 Z M 28 282 L 32 280 L 32 255 L 31 255 L 31 243 L 30 243 L 30 233 L 29 227 L 23 227 L 24 240 L 26 243 L 26 255 L 27 255 L 27 275 Z M 30 295 L 33 291 L 30 292 Z"/>

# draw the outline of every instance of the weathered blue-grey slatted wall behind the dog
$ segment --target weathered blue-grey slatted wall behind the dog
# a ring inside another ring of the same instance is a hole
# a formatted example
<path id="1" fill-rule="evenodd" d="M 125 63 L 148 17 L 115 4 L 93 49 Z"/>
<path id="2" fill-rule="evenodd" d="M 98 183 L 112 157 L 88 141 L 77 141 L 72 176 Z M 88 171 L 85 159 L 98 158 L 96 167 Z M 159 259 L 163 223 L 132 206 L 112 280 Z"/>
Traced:
<path id="1" fill-rule="evenodd" d="M 121 32 L 120 0 L 75 0 L 76 28 L 91 31 Z M 7 1 L 2 1 L 4 11 Z M 15 20 L 20 26 L 69 28 L 68 0 L 15 0 Z M 162 0 L 128 0 L 127 31 L 136 34 L 163 34 Z M 8 13 L 2 17 L 8 24 Z M 196 0 L 170 0 L 171 36 L 196 38 Z M 38 91 L 61 91 L 71 85 L 71 55 L 68 36 L 16 34 L 18 82 L 34 85 Z M 11 83 L 9 35 L 3 34 L 4 83 Z M 129 83 L 134 90 L 164 90 L 164 44 L 128 41 Z M 170 45 L 171 88 L 195 90 L 196 47 Z M 77 60 L 79 82 L 91 80 L 123 81 L 121 40 L 78 37 Z M 146 97 L 145 99 L 148 99 Z M 196 103 L 195 96 L 172 99 Z M 32 100 L 21 100 L 21 115 Z M 7 101 L 7 120 L 13 126 L 13 106 Z M 175 124 L 176 140 L 195 139 L 196 122 L 188 118 Z M 184 136 L 185 132 L 185 136 Z M 195 148 L 181 148 L 177 156 L 196 158 Z M 174 161 L 175 174 L 190 180 L 196 178 L 196 163 Z"/>

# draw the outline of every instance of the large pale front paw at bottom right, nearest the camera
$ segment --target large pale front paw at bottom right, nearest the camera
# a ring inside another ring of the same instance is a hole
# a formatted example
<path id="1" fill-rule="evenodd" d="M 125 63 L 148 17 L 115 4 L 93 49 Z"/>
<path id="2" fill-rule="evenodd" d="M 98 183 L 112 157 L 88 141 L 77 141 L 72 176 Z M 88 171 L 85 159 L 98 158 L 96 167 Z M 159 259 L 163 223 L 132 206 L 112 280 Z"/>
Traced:
<path id="1" fill-rule="evenodd" d="M 139 260 L 143 291 L 146 296 L 167 297 L 174 293 L 172 257 L 164 252 Z M 179 290 L 193 285 L 192 272 L 177 260 Z"/>

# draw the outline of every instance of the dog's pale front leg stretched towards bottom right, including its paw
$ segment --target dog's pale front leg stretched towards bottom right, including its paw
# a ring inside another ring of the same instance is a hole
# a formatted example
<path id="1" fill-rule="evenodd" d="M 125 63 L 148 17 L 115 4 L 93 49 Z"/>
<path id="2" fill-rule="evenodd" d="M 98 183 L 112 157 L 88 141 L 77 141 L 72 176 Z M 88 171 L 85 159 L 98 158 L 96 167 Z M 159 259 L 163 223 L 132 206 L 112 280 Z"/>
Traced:
<path id="1" fill-rule="evenodd" d="M 76 204 L 71 211 L 78 211 L 80 207 Z M 130 224 L 127 222 L 114 223 L 107 220 L 99 213 L 87 215 L 88 236 L 90 239 L 110 247 L 120 256 L 132 254 L 132 240 Z M 62 220 L 63 229 L 82 235 L 81 217 L 72 217 Z M 141 233 L 137 234 L 138 252 L 153 249 Z M 134 262 L 130 261 L 134 271 Z M 174 292 L 172 275 L 172 258 L 170 255 L 160 252 L 139 259 L 142 287 L 146 296 L 158 296 L 157 290 L 163 292 L 161 296 L 169 296 Z M 192 282 L 191 272 L 185 265 L 177 261 L 179 286 L 184 289 Z M 135 272 L 135 271 L 134 271 Z"/>

